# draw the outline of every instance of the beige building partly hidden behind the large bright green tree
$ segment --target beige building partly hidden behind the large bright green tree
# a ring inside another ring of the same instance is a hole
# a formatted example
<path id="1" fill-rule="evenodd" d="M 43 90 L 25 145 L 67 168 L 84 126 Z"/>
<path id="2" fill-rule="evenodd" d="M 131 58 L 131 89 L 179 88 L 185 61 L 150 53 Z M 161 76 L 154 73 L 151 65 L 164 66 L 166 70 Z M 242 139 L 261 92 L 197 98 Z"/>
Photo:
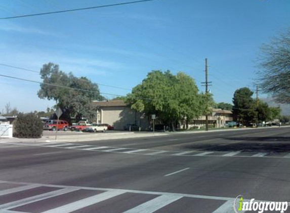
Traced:
<path id="1" fill-rule="evenodd" d="M 132 110 L 123 100 L 94 101 L 97 110 L 97 120 L 99 124 L 109 124 L 114 126 L 116 130 L 123 129 L 127 124 L 136 124 L 142 130 L 150 128 L 149 119 L 144 113 Z M 213 113 L 209 116 L 209 124 L 214 127 L 224 127 L 227 122 L 233 121 L 232 112 L 229 110 L 213 109 Z M 189 127 L 204 126 L 205 116 L 193 120 Z"/>

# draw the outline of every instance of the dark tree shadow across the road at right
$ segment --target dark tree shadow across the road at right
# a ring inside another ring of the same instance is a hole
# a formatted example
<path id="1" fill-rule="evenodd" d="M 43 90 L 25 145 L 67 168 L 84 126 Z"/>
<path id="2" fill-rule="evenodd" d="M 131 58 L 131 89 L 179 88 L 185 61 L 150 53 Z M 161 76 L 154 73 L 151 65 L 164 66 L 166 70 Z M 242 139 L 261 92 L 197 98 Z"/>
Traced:
<path id="1" fill-rule="evenodd" d="M 201 142 L 183 148 L 200 151 L 290 152 L 290 137 L 231 137 L 224 138 L 223 142 Z"/>

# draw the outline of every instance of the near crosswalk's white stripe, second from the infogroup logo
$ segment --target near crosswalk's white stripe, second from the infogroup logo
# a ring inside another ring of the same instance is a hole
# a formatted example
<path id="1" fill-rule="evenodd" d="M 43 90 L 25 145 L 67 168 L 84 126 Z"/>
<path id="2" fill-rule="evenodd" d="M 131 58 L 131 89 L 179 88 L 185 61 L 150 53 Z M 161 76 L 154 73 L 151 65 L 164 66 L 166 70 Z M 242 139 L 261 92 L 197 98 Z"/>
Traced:
<path id="1" fill-rule="evenodd" d="M 177 195 L 161 195 L 152 200 L 149 200 L 141 205 L 131 208 L 123 213 L 152 213 L 165 205 L 168 205 L 176 200 L 179 200 L 182 196 Z"/>

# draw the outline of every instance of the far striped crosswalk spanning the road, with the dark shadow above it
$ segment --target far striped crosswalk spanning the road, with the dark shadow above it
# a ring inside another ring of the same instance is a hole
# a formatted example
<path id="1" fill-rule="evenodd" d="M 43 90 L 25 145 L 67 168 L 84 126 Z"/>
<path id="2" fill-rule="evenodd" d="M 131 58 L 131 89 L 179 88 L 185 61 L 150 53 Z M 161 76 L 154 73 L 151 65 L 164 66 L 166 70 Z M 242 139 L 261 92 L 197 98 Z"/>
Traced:
<path id="1" fill-rule="evenodd" d="M 17 144 L 10 142 L 2 142 L 9 144 Z M 99 152 L 113 152 L 123 154 L 142 154 L 142 155 L 165 155 L 165 156 L 215 156 L 215 157 L 272 157 L 272 158 L 290 158 L 289 152 L 247 152 L 243 150 L 236 151 L 200 151 L 200 150 L 157 150 L 157 149 L 138 149 L 128 147 L 112 147 L 112 146 L 95 146 L 76 143 L 21 143 L 21 146 L 42 146 L 59 149 L 76 149 L 86 151 L 99 151 Z"/>

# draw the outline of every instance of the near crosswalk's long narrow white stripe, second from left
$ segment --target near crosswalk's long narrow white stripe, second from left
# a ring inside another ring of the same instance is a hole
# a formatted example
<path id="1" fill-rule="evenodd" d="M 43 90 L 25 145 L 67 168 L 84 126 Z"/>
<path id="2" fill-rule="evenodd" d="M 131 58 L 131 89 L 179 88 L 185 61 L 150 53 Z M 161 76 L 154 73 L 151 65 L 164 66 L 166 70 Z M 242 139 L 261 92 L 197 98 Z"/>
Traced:
<path id="1" fill-rule="evenodd" d="M 9 203 L 2 204 L 2 205 L 0 205 L 0 209 L 16 208 L 16 207 L 24 205 L 24 204 L 36 202 L 36 201 L 39 201 L 39 200 L 44 200 L 44 199 L 47 199 L 47 198 L 50 198 L 50 197 L 55 197 L 55 196 L 66 194 L 66 193 L 73 192 L 73 191 L 76 191 L 76 190 L 78 190 L 78 189 L 66 188 L 66 189 L 59 189 L 59 190 L 56 190 L 56 191 L 47 192 L 47 193 L 43 193 L 43 194 L 38 194 L 38 195 L 35 195 L 35 196 L 32 196 L 32 197 L 27 197 L 27 198 L 24 198 L 24 199 L 20 199 L 20 200 L 16 200 L 16 201 L 12 201 L 12 202 L 9 202 Z M 1 210 L 0 210 L 0 212 L 1 212 Z"/>

